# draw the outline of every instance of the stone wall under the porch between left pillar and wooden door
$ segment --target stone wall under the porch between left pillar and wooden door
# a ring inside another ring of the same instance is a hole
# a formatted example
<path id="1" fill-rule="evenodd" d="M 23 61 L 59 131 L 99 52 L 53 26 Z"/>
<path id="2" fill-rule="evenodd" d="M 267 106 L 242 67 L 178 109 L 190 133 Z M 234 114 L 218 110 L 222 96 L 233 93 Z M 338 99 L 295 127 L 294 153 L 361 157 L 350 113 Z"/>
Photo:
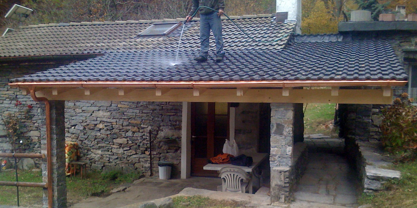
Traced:
<path id="1" fill-rule="evenodd" d="M 80 159 L 92 169 L 123 167 L 153 173 L 158 161 L 181 167 L 180 102 L 66 102 L 66 140 L 80 145 Z M 151 132 L 151 135 L 150 133 Z"/>

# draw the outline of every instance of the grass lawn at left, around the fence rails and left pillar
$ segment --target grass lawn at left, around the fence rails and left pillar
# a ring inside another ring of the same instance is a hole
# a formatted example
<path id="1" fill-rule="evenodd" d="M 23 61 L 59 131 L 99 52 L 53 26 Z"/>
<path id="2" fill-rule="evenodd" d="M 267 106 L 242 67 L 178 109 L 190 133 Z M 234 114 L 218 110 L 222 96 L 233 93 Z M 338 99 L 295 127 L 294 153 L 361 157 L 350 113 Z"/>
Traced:
<path id="1" fill-rule="evenodd" d="M 18 171 L 19 181 L 42 182 L 42 173 L 32 171 Z M 121 174 L 109 172 L 105 176 L 99 172 L 89 171 L 86 179 L 79 176 L 67 178 L 67 202 L 68 206 L 88 198 L 93 193 L 105 195 L 111 189 L 119 187 L 123 183 L 131 183 L 139 177 L 138 173 Z M 0 181 L 15 181 L 15 171 L 2 171 Z M 0 186 L 0 205 L 17 206 L 16 187 Z M 19 187 L 20 206 L 40 208 L 42 207 L 42 188 Z"/>

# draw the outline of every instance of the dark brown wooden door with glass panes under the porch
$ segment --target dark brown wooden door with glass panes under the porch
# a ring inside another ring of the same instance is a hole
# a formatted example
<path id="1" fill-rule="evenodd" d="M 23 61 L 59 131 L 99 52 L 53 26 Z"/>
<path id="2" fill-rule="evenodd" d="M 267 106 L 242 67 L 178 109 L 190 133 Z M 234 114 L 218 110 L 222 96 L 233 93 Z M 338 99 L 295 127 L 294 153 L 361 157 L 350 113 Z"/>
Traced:
<path id="1" fill-rule="evenodd" d="M 217 171 L 203 170 L 203 166 L 223 151 L 229 134 L 229 105 L 192 103 L 191 118 L 191 175 L 216 177 Z"/>

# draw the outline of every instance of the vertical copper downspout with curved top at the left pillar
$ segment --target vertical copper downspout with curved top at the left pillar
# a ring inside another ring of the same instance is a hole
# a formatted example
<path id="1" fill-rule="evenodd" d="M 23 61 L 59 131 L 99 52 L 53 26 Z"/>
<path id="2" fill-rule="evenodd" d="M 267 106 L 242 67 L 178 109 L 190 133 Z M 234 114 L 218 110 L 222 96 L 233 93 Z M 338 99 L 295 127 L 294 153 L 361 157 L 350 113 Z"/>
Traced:
<path id="1" fill-rule="evenodd" d="M 48 174 L 48 208 L 53 208 L 53 191 L 52 191 L 52 144 L 51 144 L 51 129 L 50 129 L 50 104 L 45 97 L 36 97 L 35 87 L 31 87 L 30 96 L 35 102 L 45 103 L 45 121 L 46 121 L 46 166 Z"/>

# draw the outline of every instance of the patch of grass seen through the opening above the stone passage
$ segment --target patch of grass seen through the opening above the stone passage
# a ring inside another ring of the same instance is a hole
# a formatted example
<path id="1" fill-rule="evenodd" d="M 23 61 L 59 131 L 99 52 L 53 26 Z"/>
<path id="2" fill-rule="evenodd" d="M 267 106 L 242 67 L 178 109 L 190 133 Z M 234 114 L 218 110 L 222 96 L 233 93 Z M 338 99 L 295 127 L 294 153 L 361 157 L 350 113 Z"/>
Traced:
<path id="1" fill-rule="evenodd" d="M 304 104 L 304 134 L 337 136 L 333 126 L 335 108 L 336 104 Z"/>

